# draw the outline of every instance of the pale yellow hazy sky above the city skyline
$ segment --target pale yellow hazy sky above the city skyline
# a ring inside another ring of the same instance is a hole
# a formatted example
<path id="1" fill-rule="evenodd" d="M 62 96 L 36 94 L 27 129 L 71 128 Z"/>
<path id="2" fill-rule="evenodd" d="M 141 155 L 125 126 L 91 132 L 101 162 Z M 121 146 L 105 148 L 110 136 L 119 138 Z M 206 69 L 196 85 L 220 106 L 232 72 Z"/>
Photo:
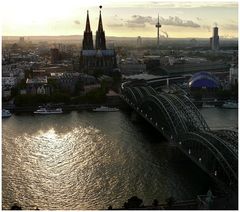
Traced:
<path id="1" fill-rule="evenodd" d="M 107 36 L 203 37 L 218 25 L 220 36 L 238 37 L 237 1 L 2 0 L 2 35 L 82 35 L 86 11 L 95 35 L 99 5 Z"/>

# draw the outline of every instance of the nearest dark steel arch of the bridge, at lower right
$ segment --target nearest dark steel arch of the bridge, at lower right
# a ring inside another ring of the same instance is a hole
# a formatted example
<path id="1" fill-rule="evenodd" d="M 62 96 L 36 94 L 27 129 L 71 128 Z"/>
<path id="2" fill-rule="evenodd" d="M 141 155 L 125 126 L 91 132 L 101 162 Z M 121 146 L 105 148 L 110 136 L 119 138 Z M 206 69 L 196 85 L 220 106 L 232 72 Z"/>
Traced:
<path id="1" fill-rule="evenodd" d="M 237 160 L 214 136 L 206 135 L 204 132 L 188 132 L 179 137 L 178 146 L 217 181 L 230 186 L 236 185 Z"/>

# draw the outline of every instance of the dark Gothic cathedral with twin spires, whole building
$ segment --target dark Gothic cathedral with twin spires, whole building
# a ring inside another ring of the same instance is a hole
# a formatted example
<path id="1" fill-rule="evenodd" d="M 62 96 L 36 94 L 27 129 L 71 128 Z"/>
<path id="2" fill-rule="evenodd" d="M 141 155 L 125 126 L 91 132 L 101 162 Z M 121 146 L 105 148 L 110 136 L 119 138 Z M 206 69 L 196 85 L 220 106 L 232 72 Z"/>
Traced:
<path id="1" fill-rule="evenodd" d="M 105 32 L 103 30 L 101 11 L 99 15 L 98 29 L 96 32 L 95 48 L 87 11 L 86 28 L 80 53 L 80 69 L 86 73 L 94 70 L 112 71 L 116 68 L 116 54 L 114 49 L 106 48 Z"/>

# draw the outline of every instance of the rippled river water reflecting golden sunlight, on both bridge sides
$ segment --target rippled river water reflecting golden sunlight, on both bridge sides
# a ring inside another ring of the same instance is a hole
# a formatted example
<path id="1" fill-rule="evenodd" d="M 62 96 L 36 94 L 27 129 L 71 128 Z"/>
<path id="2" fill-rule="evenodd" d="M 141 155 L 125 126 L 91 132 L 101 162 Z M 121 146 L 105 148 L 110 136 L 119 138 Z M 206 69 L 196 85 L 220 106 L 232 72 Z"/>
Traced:
<path id="1" fill-rule="evenodd" d="M 201 109 L 210 127 L 237 127 L 237 110 Z M 210 180 L 143 121 L 124 112 L 2 120 L 2 207 L 107 209 L 205 194 Z"/>

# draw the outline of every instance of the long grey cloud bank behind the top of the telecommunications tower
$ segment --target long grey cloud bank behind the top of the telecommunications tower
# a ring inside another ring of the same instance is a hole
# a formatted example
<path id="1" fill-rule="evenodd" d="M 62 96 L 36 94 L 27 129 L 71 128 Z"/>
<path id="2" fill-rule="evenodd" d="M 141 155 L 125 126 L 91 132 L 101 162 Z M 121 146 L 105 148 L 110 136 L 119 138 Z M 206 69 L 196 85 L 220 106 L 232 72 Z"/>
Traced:
<path id="1" fill-rule="evenodd" d="M 200 27 L 199 24 L 193 22 L 192 20 L 182 20 L 178 16 L 168 18 L 159 17 L 160 24 L 162 25 L 172 25 L 180 27 Z M 126 21 L 126 26 L 128 27 L 145 27 L 146 24 L 155 25 L 157 23 L 157 18 L 152 18 L 151 16 L 140 16 L 133 15 L 131 20 Z"/>

